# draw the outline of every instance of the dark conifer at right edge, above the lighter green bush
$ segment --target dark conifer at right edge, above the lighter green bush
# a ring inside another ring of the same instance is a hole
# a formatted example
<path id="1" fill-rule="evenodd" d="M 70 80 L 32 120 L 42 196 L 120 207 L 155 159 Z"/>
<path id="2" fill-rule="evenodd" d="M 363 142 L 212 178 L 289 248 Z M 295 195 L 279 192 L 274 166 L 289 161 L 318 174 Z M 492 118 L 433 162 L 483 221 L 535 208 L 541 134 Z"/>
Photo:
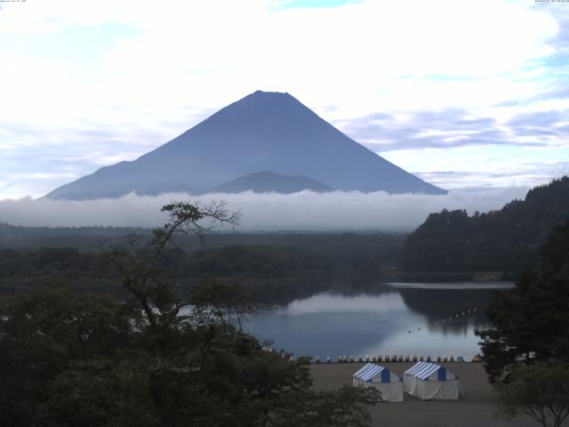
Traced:
<path id="1" fill-rule="evenodd" d="M 569 361 L 569 222 L 551 230 L 539 271 L 525 272 L 499 293 L 486 313 L 493 329 L 479 331 L 492 382 L 517 361 Z"/>

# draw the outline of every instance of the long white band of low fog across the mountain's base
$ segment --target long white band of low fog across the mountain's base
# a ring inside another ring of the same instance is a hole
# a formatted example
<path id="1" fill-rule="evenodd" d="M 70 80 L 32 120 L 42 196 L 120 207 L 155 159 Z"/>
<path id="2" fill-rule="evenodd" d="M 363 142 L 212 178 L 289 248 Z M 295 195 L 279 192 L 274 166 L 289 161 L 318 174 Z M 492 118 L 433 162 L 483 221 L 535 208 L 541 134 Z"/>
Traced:
<path id="1" fill-rule="evenodd" d="M 23 226 L 142 226 L 164 224 L 161 206 L 172 201 L 225 200 L 228 210 L 240 210 L 240 230 L 409 230 L 427 215 L 443 208 L 487 212 L 500 209 L 526 188 L 453 190 L 446 196 L 389 195 L 384 192 L 301 191 L 284 195 L 164 194 L 156 197 L 129 194 L 118 199 L 89 201 L 0 200 L 0 222 Z"/>

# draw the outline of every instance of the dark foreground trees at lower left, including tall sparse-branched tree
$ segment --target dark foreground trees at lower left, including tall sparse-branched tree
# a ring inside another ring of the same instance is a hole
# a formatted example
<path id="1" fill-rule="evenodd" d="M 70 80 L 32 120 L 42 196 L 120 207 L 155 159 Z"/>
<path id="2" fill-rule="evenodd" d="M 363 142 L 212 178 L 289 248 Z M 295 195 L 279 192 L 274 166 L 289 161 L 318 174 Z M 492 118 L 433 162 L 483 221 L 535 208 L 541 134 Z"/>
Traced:
<path id="1" fill-rule="evenodd" d="M 210 279 L 180 294 L 161 254 L 223 205 L 164 206 L 171 221 L 140 245 L 109 248 L 124 302 L 49 283 L 0 299 L 0 424 L 15 426 L 366 426 L 373 390 L 310 390 L 306 359 L 263 350 L 238 319 L 252 305 Z"/>

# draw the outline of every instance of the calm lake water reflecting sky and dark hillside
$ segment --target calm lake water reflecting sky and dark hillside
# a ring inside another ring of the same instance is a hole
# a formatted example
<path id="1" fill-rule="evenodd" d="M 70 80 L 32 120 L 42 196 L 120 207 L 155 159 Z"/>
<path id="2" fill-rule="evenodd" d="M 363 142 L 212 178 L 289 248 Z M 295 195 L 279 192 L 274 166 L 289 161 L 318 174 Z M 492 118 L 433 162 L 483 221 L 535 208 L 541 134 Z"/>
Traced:
<path id="1" fill-rule="evenodd" d="M 295 355 L 463 356 L 479 352 L 476 329 L 504 283 L 391 284 L 374 292 L 313 294 L 248 318 L 244 328 Z M 443 319 L 445 319 L 443 321 Z"/>

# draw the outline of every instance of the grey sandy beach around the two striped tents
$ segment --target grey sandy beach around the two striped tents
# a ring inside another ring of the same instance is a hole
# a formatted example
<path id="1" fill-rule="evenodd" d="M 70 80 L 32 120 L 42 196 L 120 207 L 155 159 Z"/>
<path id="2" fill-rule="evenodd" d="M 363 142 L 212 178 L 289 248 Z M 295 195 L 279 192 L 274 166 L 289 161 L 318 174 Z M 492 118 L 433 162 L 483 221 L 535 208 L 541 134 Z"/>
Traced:
<path id="1" fill-rule="evenodd" d="M 342 384 L 351 384 L 351 375 L 362 367 L 361 363 L 314 364 L 310 373 L 316 390 L 333 390 Z M 413 363 L 382 363 L 399 376 Z M 464 399 L 420 400 L 405 394 L 404 402 L 381 403 L 371 407 L 373 426 L 413 427 L 531 427 L 539 424 L 529 417 L 504 420 L 494 416 L 496 400 L 479 363 L 443 363 L 448 370 L 461 378 Z M 565 423 L 569 425 L 569 423 Z"/>

